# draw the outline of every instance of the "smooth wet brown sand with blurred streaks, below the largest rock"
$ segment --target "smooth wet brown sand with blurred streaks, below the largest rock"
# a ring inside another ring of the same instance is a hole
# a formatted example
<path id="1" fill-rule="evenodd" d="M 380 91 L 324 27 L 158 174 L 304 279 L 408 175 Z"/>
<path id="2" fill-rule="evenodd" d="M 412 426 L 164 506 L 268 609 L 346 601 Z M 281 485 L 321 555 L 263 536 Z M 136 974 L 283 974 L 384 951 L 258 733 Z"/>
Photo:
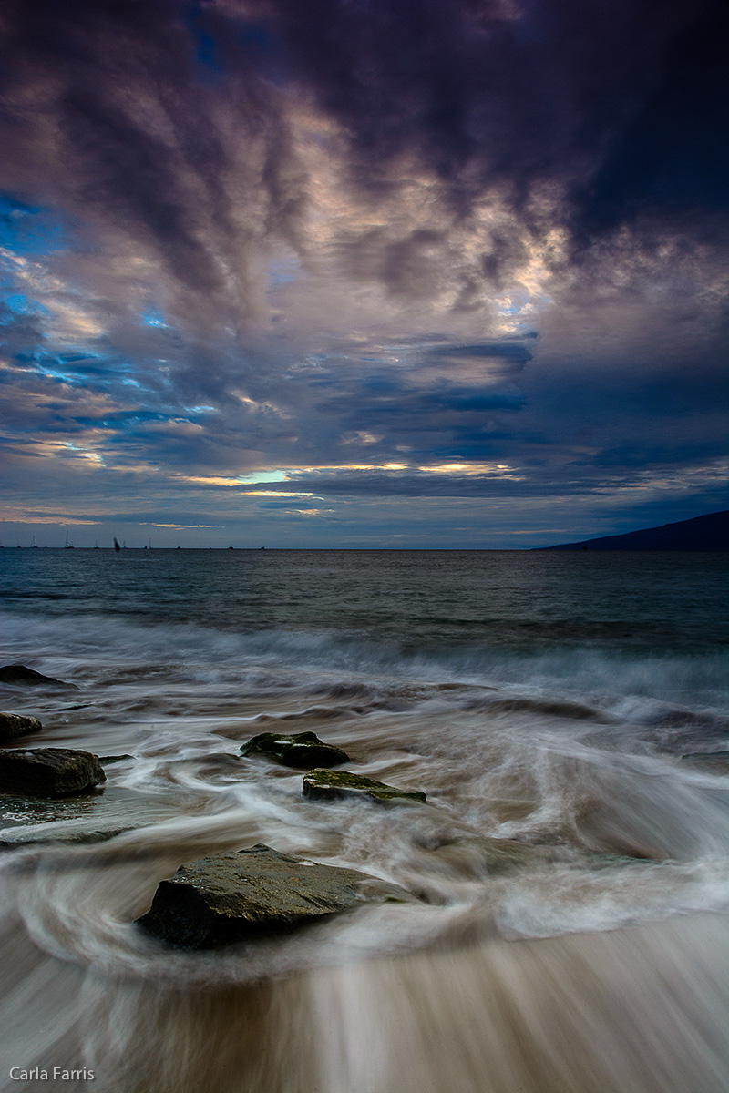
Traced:
<path id="1" fill-rule="evenodd" d="M 86 1067 L 105 1093 L 722 1093 L 720 916 L 497 937 L 251 987 L 97 974 L 4 938 L 10 1067 Z M 22 978 L 17 972 L 22 969 Z M 10 982 L 8 974 L 10 973 Z"/>

